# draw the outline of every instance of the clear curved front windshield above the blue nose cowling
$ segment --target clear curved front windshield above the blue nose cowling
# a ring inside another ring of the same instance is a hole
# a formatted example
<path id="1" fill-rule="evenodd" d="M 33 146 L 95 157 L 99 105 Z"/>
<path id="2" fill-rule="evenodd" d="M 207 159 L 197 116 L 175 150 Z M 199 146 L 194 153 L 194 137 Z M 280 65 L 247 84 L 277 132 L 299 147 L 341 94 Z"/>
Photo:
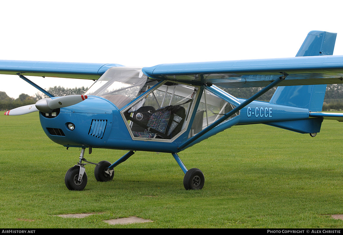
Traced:
<path id="1" fill-rule="evenodd" d="M 84 95 L 103 97 L 120 109 L 140 95 L 146 81 L 142 68 L 111 67 Z"/>

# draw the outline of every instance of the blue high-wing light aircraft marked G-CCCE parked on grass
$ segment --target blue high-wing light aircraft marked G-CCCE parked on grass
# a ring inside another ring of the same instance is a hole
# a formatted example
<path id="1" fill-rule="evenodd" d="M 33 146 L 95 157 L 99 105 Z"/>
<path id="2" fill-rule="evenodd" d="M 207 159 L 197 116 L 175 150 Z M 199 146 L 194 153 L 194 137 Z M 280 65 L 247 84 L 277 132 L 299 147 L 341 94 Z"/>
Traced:
<path id="1" fill-rule="evenodd" d="M 171 153 L 185 173 L 184 186 L 201 189 L 204 175 L 187 170 L 182 150 L 234 125 L 263 123 L 314 137 L 323 119 L 326 84 L 343 83 L 343 55 L 333 56 L 335 33 L 311 31 L 296 57 L 160 64 L 120 64 L 0 60 L 0 74 L 18 75 L 49 98 L 5 115 L 38 111 L 45 134 L 64 147 L 81 148 L 78 164 L 64 178 L 70 190 L 87 184 L 86 164 L 95 164 L 97 181 L 111 181 L 114 168 L 134 151 Z M 93 79 L 83 94 L 54 97 L 25 76 Z M 278 86 L 270 102 L 258 97 Z M 249 99 L 219 88 L 264 87 Z M 113 164 L 88 162 L 93 148 L 127 150 Z"/>

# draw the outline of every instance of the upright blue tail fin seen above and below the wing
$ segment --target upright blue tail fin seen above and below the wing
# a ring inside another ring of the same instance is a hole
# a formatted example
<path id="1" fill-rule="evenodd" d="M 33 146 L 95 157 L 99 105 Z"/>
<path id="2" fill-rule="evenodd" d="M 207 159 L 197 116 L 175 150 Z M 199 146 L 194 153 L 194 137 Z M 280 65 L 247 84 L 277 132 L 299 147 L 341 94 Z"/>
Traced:
<path id="1" fill-rule="evenodd" d="M 323 31 L 309 32 L 296 57 L 332 55 L 336 35 Z M 326 85 L 277 87 L 270 103 L 306 108 L 311 112 L 318 112 L 323 108 L 325 91 Z"/>

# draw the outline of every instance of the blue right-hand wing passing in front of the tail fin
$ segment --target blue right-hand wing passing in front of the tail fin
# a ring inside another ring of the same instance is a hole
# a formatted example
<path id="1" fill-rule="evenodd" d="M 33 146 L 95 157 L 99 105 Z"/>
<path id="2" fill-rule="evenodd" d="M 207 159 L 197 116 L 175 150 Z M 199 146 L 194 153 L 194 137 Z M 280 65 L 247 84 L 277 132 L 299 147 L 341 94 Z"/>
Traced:
<path id="1" fill-rule="evenodd" d="M 264 87 L 287 73 L 279 86 L 343 83 L 343 55 L 160 64 L 144 67 L 147 76 L 225 88 Z"/>

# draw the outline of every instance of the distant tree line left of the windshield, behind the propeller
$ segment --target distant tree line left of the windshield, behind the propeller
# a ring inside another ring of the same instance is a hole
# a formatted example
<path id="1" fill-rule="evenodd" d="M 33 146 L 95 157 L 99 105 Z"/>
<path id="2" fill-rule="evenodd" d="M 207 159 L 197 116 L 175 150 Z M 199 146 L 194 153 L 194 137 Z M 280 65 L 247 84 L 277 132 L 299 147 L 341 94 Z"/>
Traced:
<path id="1" fill-rule="evenodd" d="M 53 96 L 68 96 L 68 95 L 82 95 L 88 88 L 75 87 L 75 88 L 64 88 L 61 86 L 50 87 L 47 91 Z M 27 94 L 20 94 L 18 98 L 14 99 L 9 97 L 6 92 L 0 91 L 0 110 L 8 111 L 21 106 L 35 104 L 38 100 L 47 98 L 42 92 L 36 93 L 34 96 Z"/>

